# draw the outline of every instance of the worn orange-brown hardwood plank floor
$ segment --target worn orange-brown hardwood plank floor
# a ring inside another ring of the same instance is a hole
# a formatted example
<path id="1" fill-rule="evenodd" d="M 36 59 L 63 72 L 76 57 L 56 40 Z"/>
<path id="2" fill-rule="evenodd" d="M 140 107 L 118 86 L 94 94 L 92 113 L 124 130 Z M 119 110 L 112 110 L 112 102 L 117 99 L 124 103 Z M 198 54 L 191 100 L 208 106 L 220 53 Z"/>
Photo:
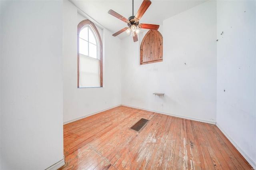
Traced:
<path id="1" fill-rule="evenodd" d="M 216 125 L 124 106 L 64 125 L 64 155 L 60 170 L 252 169 Z"/>

